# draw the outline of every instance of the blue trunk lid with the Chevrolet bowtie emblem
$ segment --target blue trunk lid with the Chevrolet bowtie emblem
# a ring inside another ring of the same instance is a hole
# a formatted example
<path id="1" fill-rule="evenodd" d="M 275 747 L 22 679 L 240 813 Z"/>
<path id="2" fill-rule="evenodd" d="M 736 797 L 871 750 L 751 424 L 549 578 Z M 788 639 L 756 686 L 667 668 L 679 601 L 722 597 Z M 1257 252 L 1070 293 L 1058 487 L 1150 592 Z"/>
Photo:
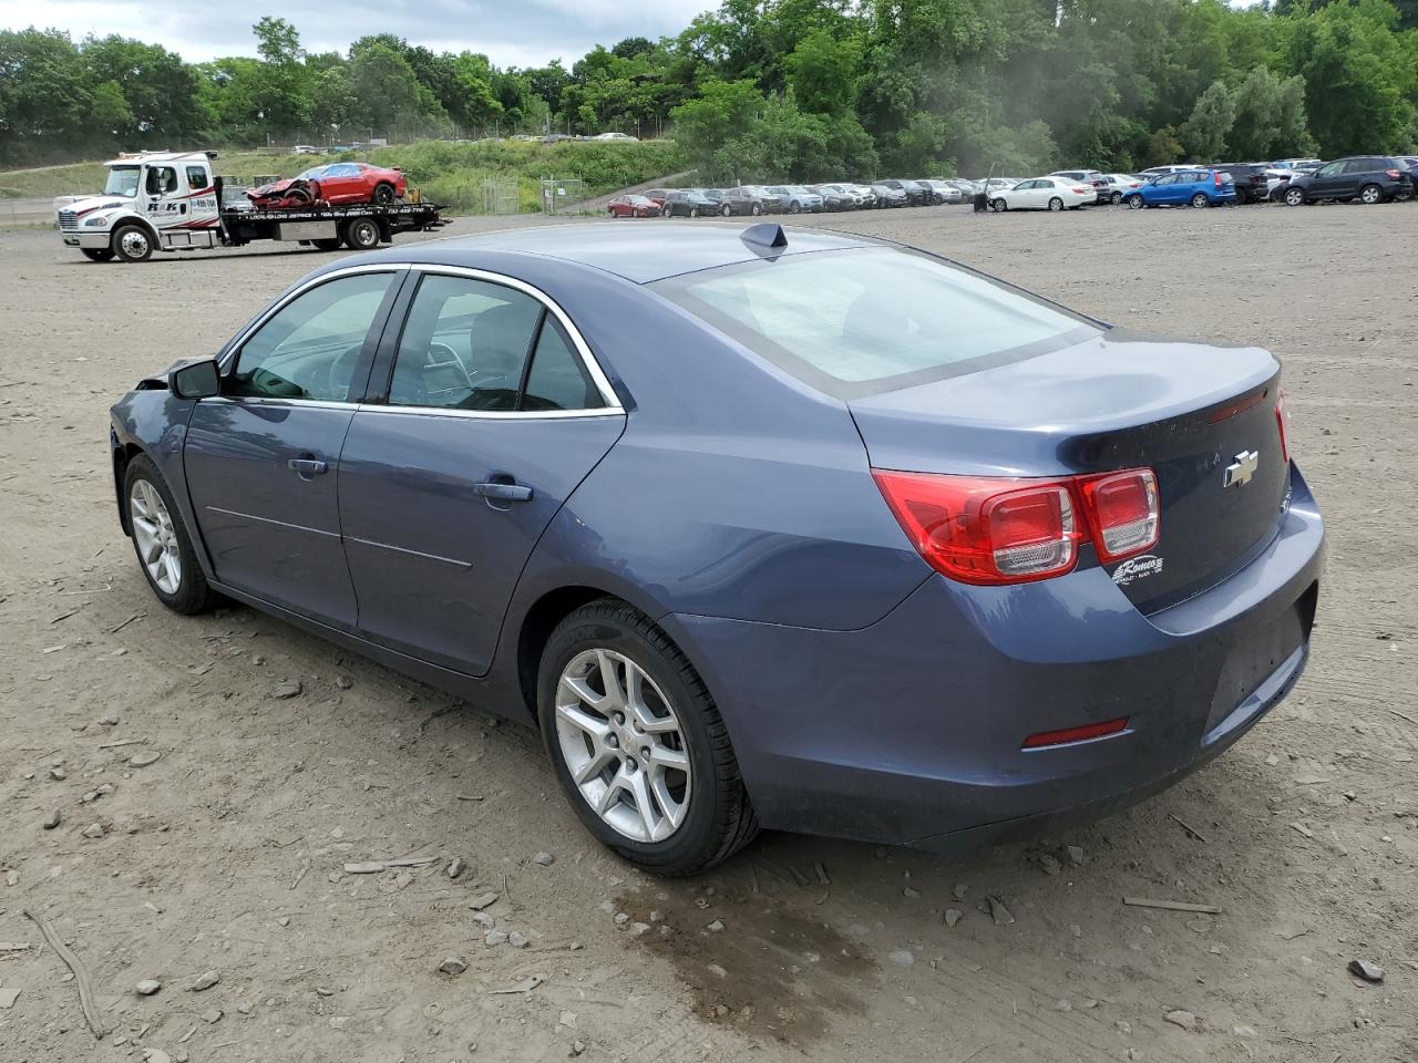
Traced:
<path id="1" fill-rule="evenodd" d="M 1160 540 L 1107 566 L 1151 612 L 1227 578 L 1275 536 L 1289 488 L 1278 398 L 1279 364 L 1261 349 L 1115 329 L 848 405 L 878 469 L 1056 476 L 1151 468 Z M 1092 560 L 1085 551 L 1082 563 Z"/>

